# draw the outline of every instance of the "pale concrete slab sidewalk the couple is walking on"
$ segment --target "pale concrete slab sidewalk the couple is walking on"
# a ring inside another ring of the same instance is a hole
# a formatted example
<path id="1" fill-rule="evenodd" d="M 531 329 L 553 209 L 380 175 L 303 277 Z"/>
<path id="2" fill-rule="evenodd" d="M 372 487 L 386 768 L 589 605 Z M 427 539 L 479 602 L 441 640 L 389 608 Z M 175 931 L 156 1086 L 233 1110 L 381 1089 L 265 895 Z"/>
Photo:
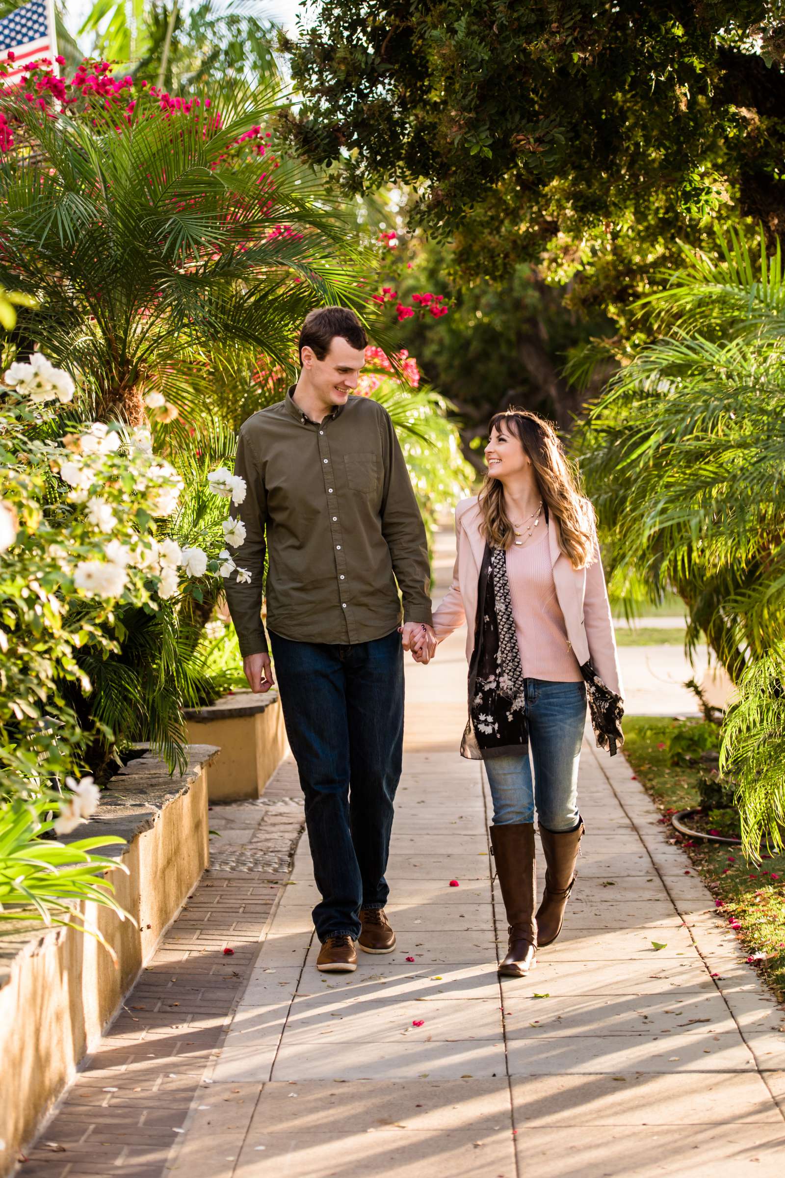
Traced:
<path id="1" fill-rule="evenodd" d="M 587 834 L 564 933 L 528 979 L 500 986 L 487 788 L 457 753 L 464 683 L 461 636 L 407 670 L 397 951 L 360 954 L 355 974 L 317 972 L 304 839 L 169 1172 L 781 1171 L 781 1012 L 621 756 L 586 744 Z"/>

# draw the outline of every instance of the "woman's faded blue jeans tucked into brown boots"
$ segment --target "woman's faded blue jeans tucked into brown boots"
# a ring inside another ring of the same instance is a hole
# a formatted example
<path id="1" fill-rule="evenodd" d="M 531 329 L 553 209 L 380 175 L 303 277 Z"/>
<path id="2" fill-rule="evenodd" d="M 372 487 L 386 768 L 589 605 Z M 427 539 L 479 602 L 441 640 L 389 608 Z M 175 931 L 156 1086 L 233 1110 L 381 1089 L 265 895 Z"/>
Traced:
<path id="1" fill-rule="evenodd" d="M 533 822 L 534 809 L 547 830 L 574 830 L 578 813 L 578 762 L 586 722 L 586 687 L 526 680 L 530 757 L 490 756 L 484 761 L 493 823 Z M 533 768 L 533 775 L 532 775 Z"/>

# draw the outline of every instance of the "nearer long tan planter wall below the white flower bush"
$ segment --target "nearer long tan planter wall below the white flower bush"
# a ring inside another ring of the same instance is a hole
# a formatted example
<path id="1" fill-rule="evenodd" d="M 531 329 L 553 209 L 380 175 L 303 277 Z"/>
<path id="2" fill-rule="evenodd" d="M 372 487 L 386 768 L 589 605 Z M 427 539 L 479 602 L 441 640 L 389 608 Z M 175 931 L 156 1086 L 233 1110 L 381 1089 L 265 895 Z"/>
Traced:
<path id="1" fill-rule="evenodd" d="M 117 774 L 94 818 L 61 840 L 127 840 L 99 854 L 128 868 L 111 880 L 138 927 L 87 906 L 117 967 L 93 937 L 69 928 L 24 925 L 0 939 L 0 1174 L 12 1172 L 207 867 L 208 766 L 217 755 L 192 746 L 187 770 L 171 777 L 146 753 Z"/>

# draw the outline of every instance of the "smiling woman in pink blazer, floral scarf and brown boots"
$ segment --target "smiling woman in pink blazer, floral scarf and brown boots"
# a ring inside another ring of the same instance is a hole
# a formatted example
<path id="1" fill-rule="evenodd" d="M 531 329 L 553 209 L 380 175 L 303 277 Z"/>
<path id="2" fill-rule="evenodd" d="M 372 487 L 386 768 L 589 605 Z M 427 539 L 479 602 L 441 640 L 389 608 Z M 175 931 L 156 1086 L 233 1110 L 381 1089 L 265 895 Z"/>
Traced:
<path id="1" fill-rule="evenodd" d="M 433 627 L 441 642 L 468 622 L 461 754 L 484 760 L 493 799 L 491 846 L 510 934 L 499 973 L 523 977 L 538 944 L 559 935 L 576 880 L 587 696 L 597 742 L 613 755 L 623 741 L 621 682 L 593 509 L 556 432 L 535 413 L 511 410 L 492 418 L 488 436 L 483 489 L 455 509 L 455 569 Z M 424 637 L 415 657 L 425 647 Z M 547 865 L 537 915 L 535 807 Z"/>

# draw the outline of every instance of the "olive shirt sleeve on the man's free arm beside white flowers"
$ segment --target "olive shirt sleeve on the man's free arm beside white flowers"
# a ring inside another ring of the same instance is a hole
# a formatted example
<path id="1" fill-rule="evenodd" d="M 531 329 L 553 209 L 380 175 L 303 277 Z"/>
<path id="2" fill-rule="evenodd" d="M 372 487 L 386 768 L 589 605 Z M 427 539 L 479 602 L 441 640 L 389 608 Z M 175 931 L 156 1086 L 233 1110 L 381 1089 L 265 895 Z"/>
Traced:
<path id="1" fill-rule="evenodd" d="M 267 635 L 261 621 L 261 603 L 265 576 L 265 525 L 267 497 L 265 483 L 254 457 L 254 448 L 244 426 L 238 438 L 234 474 L 245 479 L 246 496 L 239 507 L 232 508 L 234 518 L 245 524 L 245 540 L 239 548 L 231 549 L 239 569 L 251 573 L 251 581 L 238 583 L 237 573 L 226 578 L 226 600 L 237 630 L 240 654 L 267 653 Z"/>

